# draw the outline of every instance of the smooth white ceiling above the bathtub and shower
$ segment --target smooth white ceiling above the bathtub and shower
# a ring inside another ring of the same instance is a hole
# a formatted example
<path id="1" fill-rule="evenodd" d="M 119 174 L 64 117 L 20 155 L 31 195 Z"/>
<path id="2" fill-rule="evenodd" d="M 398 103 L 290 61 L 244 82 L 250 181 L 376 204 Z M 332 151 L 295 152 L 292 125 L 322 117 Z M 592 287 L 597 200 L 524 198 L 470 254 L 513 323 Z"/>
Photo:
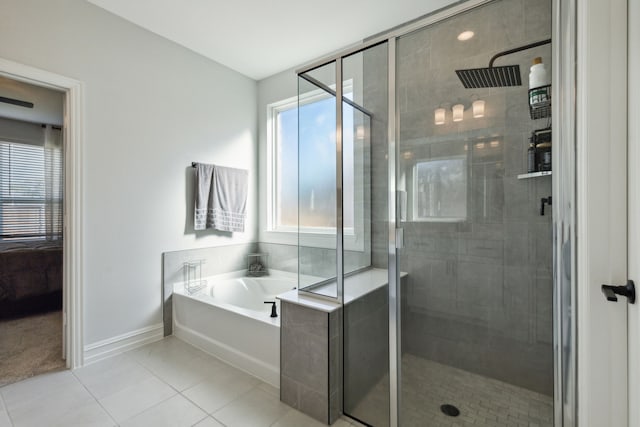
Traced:
<path id="1" fill-rule="evenodd" d="M 455 0 L 88 0 L 260 80 Z"/>

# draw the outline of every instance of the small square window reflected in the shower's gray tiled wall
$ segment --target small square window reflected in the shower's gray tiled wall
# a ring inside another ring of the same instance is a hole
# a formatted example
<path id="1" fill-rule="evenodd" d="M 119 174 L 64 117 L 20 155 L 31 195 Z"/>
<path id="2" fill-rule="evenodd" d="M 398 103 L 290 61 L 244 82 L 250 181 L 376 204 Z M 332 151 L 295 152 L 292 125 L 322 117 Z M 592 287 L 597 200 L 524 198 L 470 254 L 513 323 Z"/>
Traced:
<path id="1" fill-rule="evenodd" d="M 467 218 L 467 158 L 418 161 L 414 167 L 413 219 L 464 221 Z"/>

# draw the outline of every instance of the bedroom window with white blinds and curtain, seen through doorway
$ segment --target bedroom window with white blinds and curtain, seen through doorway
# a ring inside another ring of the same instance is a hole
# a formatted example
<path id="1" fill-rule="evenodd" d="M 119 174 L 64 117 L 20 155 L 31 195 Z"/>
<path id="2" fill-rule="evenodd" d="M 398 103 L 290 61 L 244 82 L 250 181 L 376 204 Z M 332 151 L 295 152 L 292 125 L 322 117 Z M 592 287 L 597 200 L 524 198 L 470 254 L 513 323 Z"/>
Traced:
<path id="1" fill-rule="evenodd" d="M 60 147 L 0 141 L 0 241 L 61 239 L 62 183 Z"/>

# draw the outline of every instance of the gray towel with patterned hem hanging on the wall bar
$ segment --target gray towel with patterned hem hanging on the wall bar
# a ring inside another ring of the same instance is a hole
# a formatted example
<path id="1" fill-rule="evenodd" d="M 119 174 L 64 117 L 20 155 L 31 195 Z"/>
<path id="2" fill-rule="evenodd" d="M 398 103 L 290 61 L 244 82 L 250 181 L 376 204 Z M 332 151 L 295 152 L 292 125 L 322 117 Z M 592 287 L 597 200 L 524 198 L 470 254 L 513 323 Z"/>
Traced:
<path id="1" fill-rule="evenodd" d="M 198 163 L 194 228 L 244 231 L 248 188 L 248 171 Z"/>

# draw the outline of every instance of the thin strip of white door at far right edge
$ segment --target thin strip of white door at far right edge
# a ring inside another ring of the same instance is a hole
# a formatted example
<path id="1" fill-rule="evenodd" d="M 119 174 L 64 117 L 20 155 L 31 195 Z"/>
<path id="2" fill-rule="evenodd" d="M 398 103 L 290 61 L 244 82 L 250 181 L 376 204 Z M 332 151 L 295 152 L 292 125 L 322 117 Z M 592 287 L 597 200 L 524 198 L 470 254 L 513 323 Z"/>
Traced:
<path id="1" fill-rule="evenodd" d="M 640 285 L 640 2 L 628 10 L 629 278 Z M 640 426 L 640 303 L 628 307 L 629 426 Z"/>

